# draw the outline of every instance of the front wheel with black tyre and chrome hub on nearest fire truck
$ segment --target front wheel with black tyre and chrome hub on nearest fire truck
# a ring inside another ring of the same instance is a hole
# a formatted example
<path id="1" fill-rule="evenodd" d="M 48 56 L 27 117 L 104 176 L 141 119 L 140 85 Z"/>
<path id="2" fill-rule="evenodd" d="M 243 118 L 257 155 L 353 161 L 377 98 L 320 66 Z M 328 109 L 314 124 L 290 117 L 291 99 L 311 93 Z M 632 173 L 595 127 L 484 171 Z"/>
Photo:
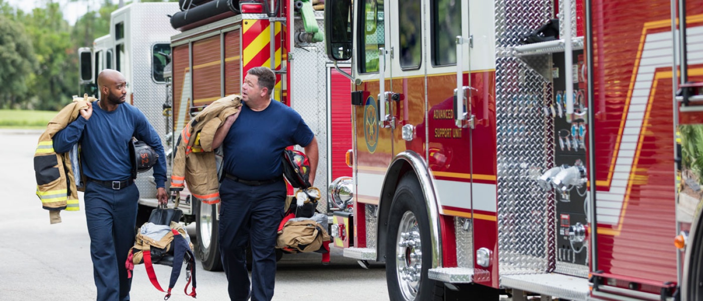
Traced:
<path id="1" fill-rule="evenodd" d="M 401 178 L 388 218 L 386 281 L 390 300 L 441 300 L 444 290 L 427 278 L 432 265 L 430 221 L 420 182 Z"/>

